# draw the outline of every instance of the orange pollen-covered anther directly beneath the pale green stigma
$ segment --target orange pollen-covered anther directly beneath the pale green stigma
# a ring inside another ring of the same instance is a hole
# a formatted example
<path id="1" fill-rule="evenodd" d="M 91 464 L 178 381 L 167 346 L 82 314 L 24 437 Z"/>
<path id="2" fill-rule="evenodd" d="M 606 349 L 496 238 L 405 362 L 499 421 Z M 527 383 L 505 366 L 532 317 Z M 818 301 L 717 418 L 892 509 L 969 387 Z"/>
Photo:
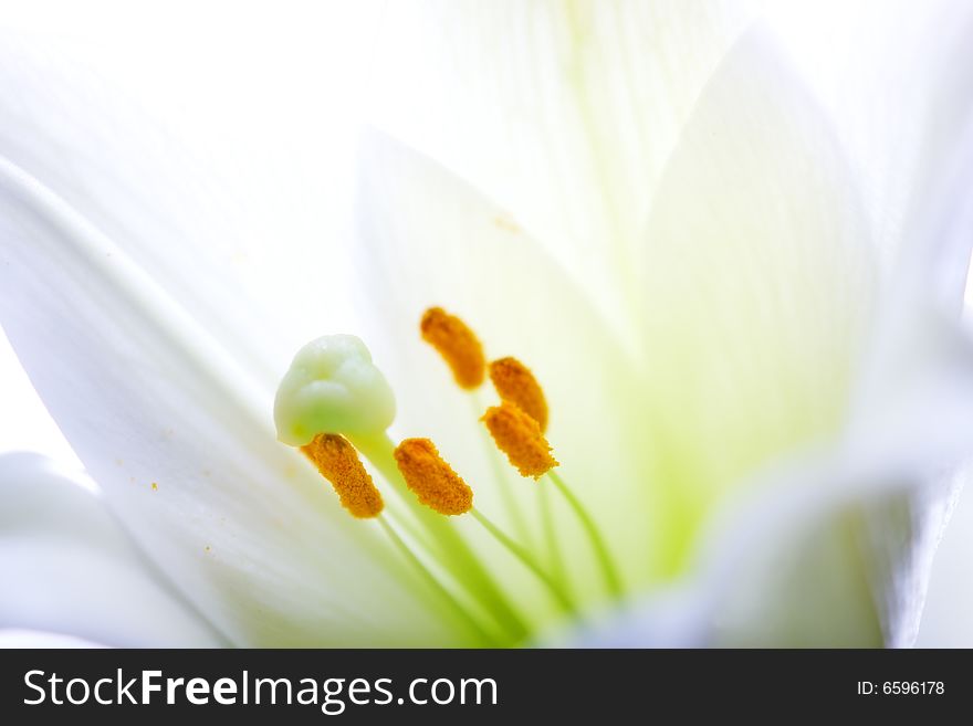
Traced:
<path id="1" fill-rule="evenodd" d="M 336 433 L 320 433 L 310 444 L 301 446 L 301 451 L 331 482 L 342 506 L 352 516 L 367 519 L 381 514 L 385 506 L 381 494 L 347 439 Z"/>

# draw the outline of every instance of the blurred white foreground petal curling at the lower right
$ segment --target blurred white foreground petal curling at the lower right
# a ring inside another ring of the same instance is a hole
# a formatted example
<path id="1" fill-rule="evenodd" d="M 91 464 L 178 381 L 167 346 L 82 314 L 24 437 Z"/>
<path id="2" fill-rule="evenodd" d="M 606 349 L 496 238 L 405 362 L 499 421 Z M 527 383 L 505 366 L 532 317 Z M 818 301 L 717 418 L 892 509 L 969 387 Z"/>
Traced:
<path id="1" fill-rule="evenodd" d="M 948 346 L 946 346 L 948 347 Z M 910 645 L 929 565 L 973 448 L 973 348 L 921 396 L 752 482 L 708 527 L 690 574 L 583 633 L 597 646 Z"/>

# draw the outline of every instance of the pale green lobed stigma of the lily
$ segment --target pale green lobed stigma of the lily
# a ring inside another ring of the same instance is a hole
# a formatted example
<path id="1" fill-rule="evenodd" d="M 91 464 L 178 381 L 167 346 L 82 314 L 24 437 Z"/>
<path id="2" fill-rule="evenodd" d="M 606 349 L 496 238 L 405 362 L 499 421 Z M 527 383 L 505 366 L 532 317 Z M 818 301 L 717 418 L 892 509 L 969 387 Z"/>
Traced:
<path id="1" fill-rule="evenodd" d="M 274 399 L 278 439 L 291 446 L 318 433 L 381 434 L 395 413 L 391 388 L 353 335 L 326 335 L 301 348 Z"/>

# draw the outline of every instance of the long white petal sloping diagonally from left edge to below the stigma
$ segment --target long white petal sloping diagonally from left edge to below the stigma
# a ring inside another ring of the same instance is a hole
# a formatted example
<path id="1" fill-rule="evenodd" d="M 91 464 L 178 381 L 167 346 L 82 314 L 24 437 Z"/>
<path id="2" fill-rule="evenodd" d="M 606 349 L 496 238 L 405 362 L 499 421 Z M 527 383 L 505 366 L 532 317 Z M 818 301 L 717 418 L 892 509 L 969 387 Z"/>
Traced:
<path id="1" fill-rule="evenodd" d="M 377 528 L 275 441 L 273 390 L 7 161 L 0 239 L 0 320 L 32 382 L 125 526 L 224 636 L 451 642 Z"/>

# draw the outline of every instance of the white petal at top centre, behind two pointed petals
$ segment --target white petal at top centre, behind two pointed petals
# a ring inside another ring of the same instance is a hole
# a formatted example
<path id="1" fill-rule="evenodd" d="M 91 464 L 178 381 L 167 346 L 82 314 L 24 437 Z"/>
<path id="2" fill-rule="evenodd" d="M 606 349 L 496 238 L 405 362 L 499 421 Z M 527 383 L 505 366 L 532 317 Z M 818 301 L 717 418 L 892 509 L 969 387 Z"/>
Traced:
<path id="1" fill-rule="evenodd" d="M 758 3 L 393 3 L 369 118 L 471 180 L 615 316 L 651 192 Z"/>

